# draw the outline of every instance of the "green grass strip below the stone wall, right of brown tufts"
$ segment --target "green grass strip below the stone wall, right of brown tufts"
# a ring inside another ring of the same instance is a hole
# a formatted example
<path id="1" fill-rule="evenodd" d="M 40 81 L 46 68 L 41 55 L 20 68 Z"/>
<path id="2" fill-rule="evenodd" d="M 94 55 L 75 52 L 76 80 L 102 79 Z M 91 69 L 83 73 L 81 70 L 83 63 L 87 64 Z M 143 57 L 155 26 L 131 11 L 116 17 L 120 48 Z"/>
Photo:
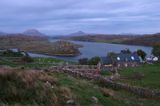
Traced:
<path id="1" fill-rule="evenodd" d="M 160 101 L 153 98 L 144 98 L 125 90 L 116 89 L 115 97 L 105 97 L 100 92 L 101 86 L 94 81 L 74 78 L 67 74 L 54 74 L 59 84 L 66 86 L 76 95 L 82 106 L 94 106 L 91 97 L 99 99 L 97 106 L 160 106 Z M 112 89 L 112 88 L 108 88 Z"/>

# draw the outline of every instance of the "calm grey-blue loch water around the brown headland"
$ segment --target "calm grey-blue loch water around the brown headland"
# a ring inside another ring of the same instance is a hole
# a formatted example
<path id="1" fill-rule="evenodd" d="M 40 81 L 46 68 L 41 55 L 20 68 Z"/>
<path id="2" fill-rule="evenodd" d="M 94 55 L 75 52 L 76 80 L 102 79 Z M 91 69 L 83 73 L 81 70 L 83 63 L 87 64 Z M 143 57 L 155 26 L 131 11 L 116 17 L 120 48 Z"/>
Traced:
<path id="1" fill-rule="evenodd" d="M 55 42 L 56 40 L 51 40 L 51 42 Z M 142 49 L 147 53 L 147 55 L 151 55 L 152 47 L 147 46 L 135 46 L 135 45 L 124 45 L 124 44 L 110 44 L 110 43 L 99 43 L 99 42 L 82 42 L 82 41 L 70 41 L 75 44 L 80 44 L 83 47 L 80 48 L 80 52 L 82 53 L 80 56 L 76 57 L 58 57 L 58 56 L 47 56 L 42 54 L 30 54 L 33 57 L 54 57 L 60 58 L 64 60 L 77 61 L 80 58 L 91 58 L 94 56 L 106 56 L 109 52 L 119 53 L 122 49 L 128 48 L 132 52 L 137 49 Z"/>

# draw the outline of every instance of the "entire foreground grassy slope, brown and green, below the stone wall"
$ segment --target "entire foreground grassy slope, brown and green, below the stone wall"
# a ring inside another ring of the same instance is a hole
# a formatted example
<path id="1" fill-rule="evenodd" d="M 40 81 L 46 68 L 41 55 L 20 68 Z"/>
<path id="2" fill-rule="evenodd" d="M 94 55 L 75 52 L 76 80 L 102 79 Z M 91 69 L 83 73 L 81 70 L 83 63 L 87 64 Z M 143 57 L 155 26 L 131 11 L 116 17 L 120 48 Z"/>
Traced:
<path id="1" fill-rule="evenodd" d="M 49 81 L 53 88 L 50 84 L 47 85 L 46 81 Z M 65 106 L 66 101 L 72 98 L 76 105 L 80 106 L 160 105 L 159 100 L 139 97 L 118 89 L 113 90 L 113 97 L 105 97 L 100 91 L 101 88 L 104 88 L 103 85 L 68 74 L 21 69 L 12 73 L 0 69 L 0 104 Z M 92 96 L 98 98 L 98 104 L 93 103 Z"/>

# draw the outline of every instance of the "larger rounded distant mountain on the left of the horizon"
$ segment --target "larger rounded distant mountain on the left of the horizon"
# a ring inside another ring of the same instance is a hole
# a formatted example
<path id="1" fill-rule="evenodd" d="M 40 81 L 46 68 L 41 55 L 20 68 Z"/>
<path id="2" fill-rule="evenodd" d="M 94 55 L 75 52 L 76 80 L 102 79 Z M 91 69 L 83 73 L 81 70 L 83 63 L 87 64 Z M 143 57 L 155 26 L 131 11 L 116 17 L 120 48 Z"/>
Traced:
<path id="1" fill-rule="evenodd" d="M 36 29 L 29 29 L 23 32 L 25 35 L 30 35 L 30 36 L 45 36 L 45 34 L 39 32 Z"/>

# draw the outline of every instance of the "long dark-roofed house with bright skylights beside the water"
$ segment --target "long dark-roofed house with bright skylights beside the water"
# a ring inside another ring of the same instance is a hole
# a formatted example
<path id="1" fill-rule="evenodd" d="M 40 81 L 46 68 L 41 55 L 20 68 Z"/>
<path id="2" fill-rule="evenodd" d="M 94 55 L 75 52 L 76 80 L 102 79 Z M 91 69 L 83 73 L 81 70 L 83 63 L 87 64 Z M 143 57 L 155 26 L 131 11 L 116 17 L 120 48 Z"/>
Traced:
<path id="1" fill-rule="evenodd" d="M 115 66 L 118 68 L 137 66 L 142 62 L 142 59 L 136 53 L 118 53 L 112 57 L 101 57 L 101 65 L 104 67 Z"/>

